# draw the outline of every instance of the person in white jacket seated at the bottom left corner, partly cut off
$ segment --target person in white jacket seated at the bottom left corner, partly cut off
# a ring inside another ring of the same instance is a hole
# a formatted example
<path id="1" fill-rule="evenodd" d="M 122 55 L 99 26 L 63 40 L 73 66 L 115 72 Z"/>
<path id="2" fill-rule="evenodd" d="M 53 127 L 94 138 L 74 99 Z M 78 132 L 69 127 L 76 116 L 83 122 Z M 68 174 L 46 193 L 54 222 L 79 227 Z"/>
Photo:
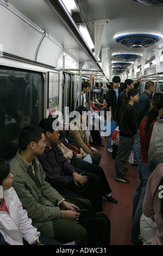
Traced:
<path id="1" fill-rule="evenodd" d="M 10 173 L 10 165 L 4 159 L 0 159 L 0 233 L 9 245 L 24 245 L 24 240 L 29 245 L 42 245 L 40 232 L 32 225 L 27 211 L 12 187 L 13 175 Z M 61 245 L 60 242 L 48 237 L 45 245 Z M 54 241 L 54 243 L 53 243 Z"/>

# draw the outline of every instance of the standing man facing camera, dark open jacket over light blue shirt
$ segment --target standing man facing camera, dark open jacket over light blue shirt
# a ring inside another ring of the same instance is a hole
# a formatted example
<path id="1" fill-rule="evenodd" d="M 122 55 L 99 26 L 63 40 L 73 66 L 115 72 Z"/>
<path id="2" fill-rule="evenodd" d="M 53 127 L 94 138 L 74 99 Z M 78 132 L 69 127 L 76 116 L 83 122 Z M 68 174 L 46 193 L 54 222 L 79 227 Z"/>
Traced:
<path id="1" fill-rule="evenodd" d="M 114 76 L 112 78 L 113 86 L 106 93 L 105 100 L 107 103 L 108 111 L 111 112 L 111 120 L 113 120 L 115 117 L 117 99 L 118 99 L 118 95 L 121 93 L 121 89 L 119 87 L 120 82 L 121 82 L 121 78 L 119 76 Z M 112 153 L 111 139 L 112 139 L 112 134 L 108 136 L 107 144 L 106 144 L 106 150 L 110 153 Z"/>

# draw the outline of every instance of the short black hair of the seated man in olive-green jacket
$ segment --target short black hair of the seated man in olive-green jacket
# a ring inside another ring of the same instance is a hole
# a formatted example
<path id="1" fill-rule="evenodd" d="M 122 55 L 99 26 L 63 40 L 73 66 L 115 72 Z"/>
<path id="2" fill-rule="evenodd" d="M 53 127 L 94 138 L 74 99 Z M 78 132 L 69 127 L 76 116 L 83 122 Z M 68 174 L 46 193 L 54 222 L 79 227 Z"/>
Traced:
<path id="1" fill-rule="evenodd" d="M 26 126 L 18 136 L 18 143 L 21 150 L 26 150 L 30 142 L 38 142 L 42 138 L 43 129 L 37 126 Z"/>

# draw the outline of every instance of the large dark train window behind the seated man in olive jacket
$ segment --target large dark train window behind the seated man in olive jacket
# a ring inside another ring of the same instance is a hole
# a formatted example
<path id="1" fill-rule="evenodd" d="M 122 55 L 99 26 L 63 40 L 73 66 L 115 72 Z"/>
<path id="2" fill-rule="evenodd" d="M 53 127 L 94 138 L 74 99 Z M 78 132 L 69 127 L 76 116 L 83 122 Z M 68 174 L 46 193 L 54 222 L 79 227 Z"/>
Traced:
<path id="1" fill-rule="evenodd" d="M 10 160 L 18 149 L 18 134 L 43 117 L 41 74 L 0 68 L 0 156 Z"/>

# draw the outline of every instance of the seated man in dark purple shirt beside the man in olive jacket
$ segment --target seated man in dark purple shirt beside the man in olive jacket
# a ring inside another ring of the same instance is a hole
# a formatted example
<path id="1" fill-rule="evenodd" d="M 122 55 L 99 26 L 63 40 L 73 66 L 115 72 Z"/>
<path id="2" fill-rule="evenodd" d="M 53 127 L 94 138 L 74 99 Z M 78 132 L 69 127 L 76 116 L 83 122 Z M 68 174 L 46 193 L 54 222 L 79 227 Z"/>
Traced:
<path id="1" fill-rule="evenodd" d="M 102 211 L 101 181 L 96 174 L 88 173 L 78 169 L 78 172 L 67 161 L 66 157 L 58 147 L 59 128 L 53 130 L 53 121 L 57 118 L 42 119 L 39 126 L 44 130 L 46 148 L 42 155 L 38 156 L 43 170 L 46 173 L 46 181 L 63 196 L 83 197 L 90 200 L 95 211 Z M 84 175 L 81 175 L 81 174 Z M 80 192 L 80 186 L 86 186 L 86 191 Z"/>

